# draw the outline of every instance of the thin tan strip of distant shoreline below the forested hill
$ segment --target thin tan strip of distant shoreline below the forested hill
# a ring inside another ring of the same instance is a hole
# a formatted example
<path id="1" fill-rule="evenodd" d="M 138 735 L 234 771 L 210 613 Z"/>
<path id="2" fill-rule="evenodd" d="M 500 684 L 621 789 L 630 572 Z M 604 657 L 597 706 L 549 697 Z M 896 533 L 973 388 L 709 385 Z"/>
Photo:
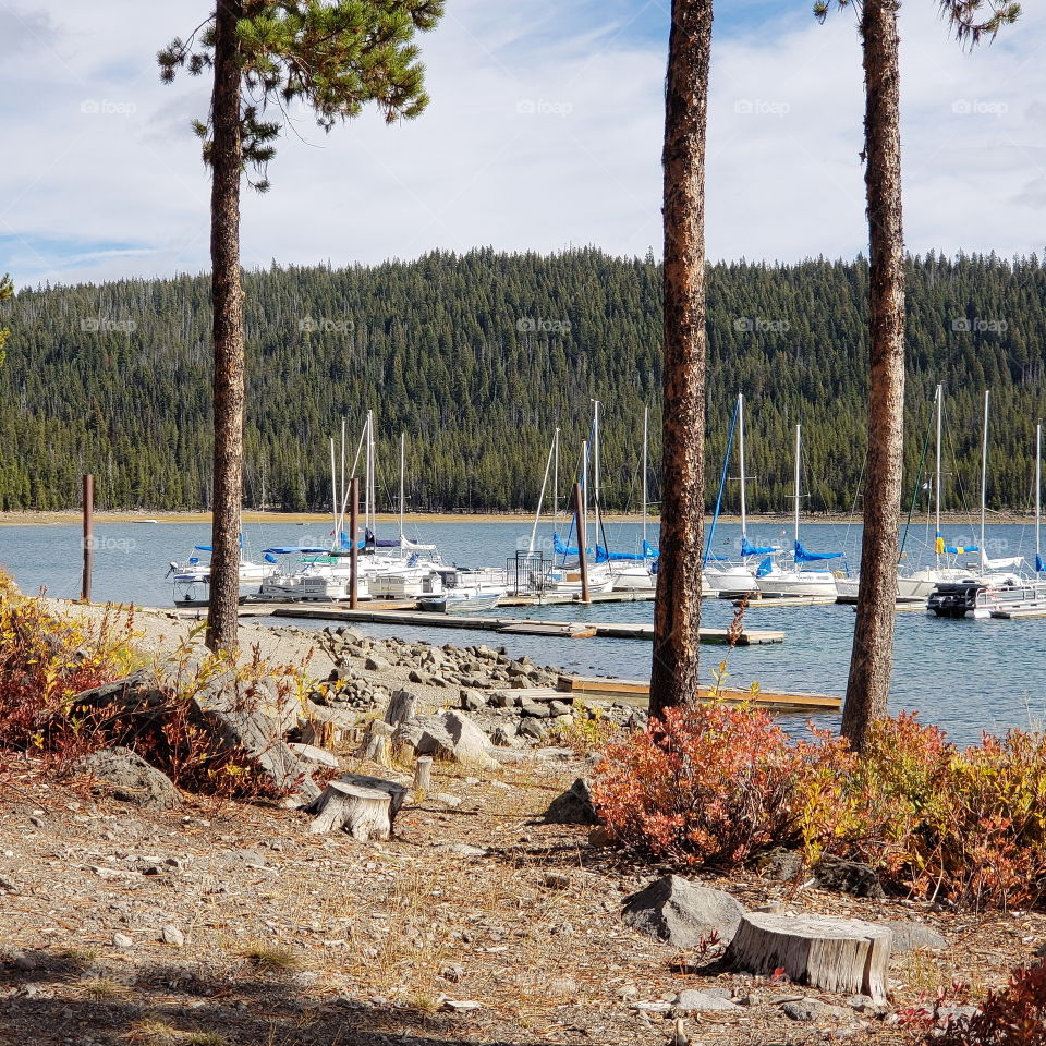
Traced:
<path id="1" fill-rule="evenodd" d="M 82 515 L 80 509 L 62 509 L 48 512 L 26 511 L 26 512 L 0 512 L 0 526 L 57 526 L 72 525 L 80 522 Z M 396 523 L 399 516 L 392 512 L 379 512 L 378 522 L 388 524 Z M 604 519 L 608 523 L 641 523 L 643 516 L 638 513 L 608 512 Z M 972 512 L 946 512 L 941 516 L 942 521 L 949 525 L 961 523 L 963 526 L 972 526 L 976 523 L 975 513 Z M 406 520 L 412 528 L 416 525 L 426 523 L 531 523 L 534 522 L 533 512 L 412 512 Z M 155 521 L 157 523 L 196 523 L 210 524 L 210 513 L 204 511 L 180 511 L 180 512 L 149 512 L 148 510 L 127 510 L 119 511 L 98 511 L 95 512 L 95 522 L 106 523 L 146 523 Z M 252 512 L 243 513 L 244 523 L 269 523 L 275 525 L 296 526 L 297 524 L 325 524 L 331 522 L 331 516 L 326 512 Z M 548 523 L 548 516 L 543 515 L 544 525 Z M 658 523 L 657 516 L 649 516 L 648 522 Z M 711 516 L 705 516 L 706 525 L 711 522 Z M 720 523 L 740 523 L 738 515 L 720 515 Z M 781 525 L 787 526 L 792 522 L 792 516 L 787 513 L 768 513 L 765 515 L 750 514 L 749 522 L 754 526 Z M 859 516 L 852 516 L 843 512 L 823 512 L 818 514 L 804 515 L 803 525 L 817 523 L 860 523 Z M 903 522 L 903 519 L 902 519 Z M 913 519 L 913 525 L 925 525 L 924 515 Z M 989 512 L 988 523 L 1009 523 L 1021 524 L 1035 522 L 1032 512 L 1014 512 L 1005 510 L 1002 512 Z"/>

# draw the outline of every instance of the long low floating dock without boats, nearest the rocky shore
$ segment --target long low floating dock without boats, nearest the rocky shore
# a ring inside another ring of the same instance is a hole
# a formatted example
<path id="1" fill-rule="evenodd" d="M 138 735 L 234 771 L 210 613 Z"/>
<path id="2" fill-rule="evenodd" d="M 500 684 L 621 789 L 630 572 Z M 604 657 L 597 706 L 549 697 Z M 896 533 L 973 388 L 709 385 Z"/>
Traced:
<path id="1" fill-rule="evenodd" d="M 402 624 L 422 629 L 471 629 L 484 632 L 511 632 L 515 635 L 561 635 L 568 638 L 598 636 L 605 640 L 653 640 L 653 624 L 608 623 L 589 621 L 536 621 L 526 618 L 479 618 L 455 613 L 426 613 L 421 610 L 388 610 L 376 607 L 346 607 L 291 605 L 256 605 L 241 607 L 245 617 L 305 618 L 319 621 L 363 621 L 370 624 Z M 701 642 L 725 645 L 730 642 L 727 629 L 702 629 Z M 738 637 L 738 646 L 764 646 L 783 643 L 784 633 L 770 630 L 745 629 Z"/>

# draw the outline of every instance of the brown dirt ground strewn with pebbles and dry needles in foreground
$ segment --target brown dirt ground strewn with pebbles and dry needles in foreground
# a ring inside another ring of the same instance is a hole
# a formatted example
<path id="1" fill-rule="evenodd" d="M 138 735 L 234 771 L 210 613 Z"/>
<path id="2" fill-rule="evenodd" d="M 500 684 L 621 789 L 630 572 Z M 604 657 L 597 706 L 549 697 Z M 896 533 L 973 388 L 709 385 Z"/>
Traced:
<path id="1" fill-rule="evenodd" d="M 86 611 L 97 612 L 97 611 Z M 139 616 L 143 645 L 191 627 Z M 250 627 L 265 656 L 323 674 L 311 640 Z M 345 771 L 408 781 L 339 753 Z M 690 1014 L 693 1046 L 910 1042 L 896 1021 L 952 982 L 974 998 L 1046 940 L 1037 913 L 935 912 L 756 875 L 703 877 L 752 909 L 919 920 L 942 952 L 895 956 L 890 1013 L 720 970 L 641 936 L 622 899 L 665 869 L 546 825 L 580 756 L 522 753 L 470 776 L 437 764 L 396 836 L 315 836 L 304 813 L 182 794 L 150 813 L 22 756 L 0 766 L 0 1043 L 647 1046 L 668 1043 L 677 994 L 735 1009 Z M 789 1000 L 820 999 L 813 1020 Z"/>

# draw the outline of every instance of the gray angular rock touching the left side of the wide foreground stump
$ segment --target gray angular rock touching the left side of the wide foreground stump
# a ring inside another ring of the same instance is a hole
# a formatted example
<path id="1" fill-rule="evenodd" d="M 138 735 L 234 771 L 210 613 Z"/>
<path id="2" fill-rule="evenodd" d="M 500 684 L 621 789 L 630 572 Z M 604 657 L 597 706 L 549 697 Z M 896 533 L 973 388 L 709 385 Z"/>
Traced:
<path id="1" fill-rule="evenodd" d="M 655 879 L 624 899 L 622 919 L 640 933 L 673 948 L 695 948 L 710 934 L 729 944 L 744 909 L 729 893 L 691 883 L 679 875 Z"/>

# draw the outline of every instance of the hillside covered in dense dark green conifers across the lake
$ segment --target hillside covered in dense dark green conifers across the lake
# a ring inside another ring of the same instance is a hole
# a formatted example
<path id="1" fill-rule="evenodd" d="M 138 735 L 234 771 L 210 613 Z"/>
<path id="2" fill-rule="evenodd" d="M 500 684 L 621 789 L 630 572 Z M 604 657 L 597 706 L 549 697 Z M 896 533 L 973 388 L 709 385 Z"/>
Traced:
<path id="1" fill-rule="evenodd" d="M 246 503 L 329 502 L 327 439 L 363 412 L 381 433 L 391 503 L 408 434 L 413 509 L 532 508 L 556 426 L 573 470 L 604 403 L 605 500 L 636 507 L 644 403 L 652 499 L 659 452 L 660 273 L 652 258 L 477 250 L 414 263 L 247 273 Z M 848 509 L 864 455 L 867 267 L 810 260 L 711 269 L 709 486 L 738 390 L 749 402 L 749 504 L 790 511 L 793 427 L 803 423 L 808 511 Z M 952 507 L 976 500 L 982 398 L 993 396 L 993 506 L 1031 496 L 1043 413 L 1046 272 L 1032 257 L 909 263 L 909 484 L 934 386 L 946 388 Z M 0 508 L 208 502 L 210 306 L 204 277 L 22 291 L 0 368 Z M 737 475 L 737 467 L 730 471 Z M 727 498 L 737 507 L 738 484 Z M 715 490 L 709 489 L 709 503 Z"/>

